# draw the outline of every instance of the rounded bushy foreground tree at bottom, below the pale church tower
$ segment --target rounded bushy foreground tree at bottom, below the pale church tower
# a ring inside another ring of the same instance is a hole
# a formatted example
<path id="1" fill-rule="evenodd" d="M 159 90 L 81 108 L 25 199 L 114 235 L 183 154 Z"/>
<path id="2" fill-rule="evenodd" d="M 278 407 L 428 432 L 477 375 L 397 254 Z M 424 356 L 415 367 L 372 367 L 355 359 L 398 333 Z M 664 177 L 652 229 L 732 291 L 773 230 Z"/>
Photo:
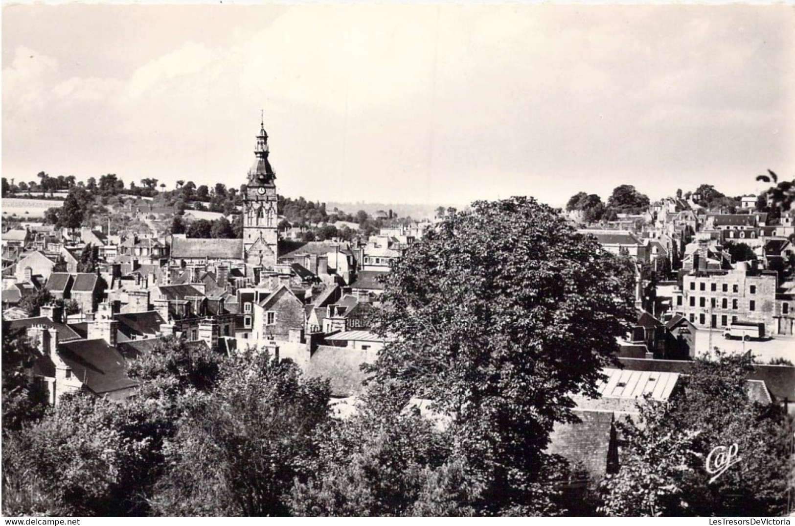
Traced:
<path id="1" fill-rule="evenodd" d="M 170 469 L 152 503 L 165 516 L 285 516 L 293 480 L 309 476 L 316 427 L 328 419 L 327 381 L 289 360 L 227 359 L 217 388 L 185 397 Z"/>

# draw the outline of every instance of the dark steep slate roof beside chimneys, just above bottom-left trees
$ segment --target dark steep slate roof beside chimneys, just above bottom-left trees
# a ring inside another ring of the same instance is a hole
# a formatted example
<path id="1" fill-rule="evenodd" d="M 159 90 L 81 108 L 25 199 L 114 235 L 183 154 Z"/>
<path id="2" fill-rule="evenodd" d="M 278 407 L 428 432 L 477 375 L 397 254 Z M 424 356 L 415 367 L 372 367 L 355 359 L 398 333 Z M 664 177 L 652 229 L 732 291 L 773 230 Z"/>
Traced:
<path id="1" fill-rule="evenodd" d="M 124 357 L 104 340 L 71 341 L 59 345 L 58 356 L 83 382 L 83 387 L 97 394 L 138 387 L 127 376 Z"/>

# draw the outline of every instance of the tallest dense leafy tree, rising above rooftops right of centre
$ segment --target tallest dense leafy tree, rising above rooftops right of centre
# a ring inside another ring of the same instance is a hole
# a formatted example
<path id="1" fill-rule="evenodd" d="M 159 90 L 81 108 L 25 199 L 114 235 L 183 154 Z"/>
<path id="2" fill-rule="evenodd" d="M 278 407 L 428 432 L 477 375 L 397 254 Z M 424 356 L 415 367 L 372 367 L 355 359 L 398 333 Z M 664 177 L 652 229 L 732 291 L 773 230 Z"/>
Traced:
<path id="1" fill-rule="evenodd" d="M 374 382 L 432 399 L 492 512 L 537 499 L 553 423 L 632 319 L 626 265 L 532 198 L 448 215 L 386 278 Z"/>

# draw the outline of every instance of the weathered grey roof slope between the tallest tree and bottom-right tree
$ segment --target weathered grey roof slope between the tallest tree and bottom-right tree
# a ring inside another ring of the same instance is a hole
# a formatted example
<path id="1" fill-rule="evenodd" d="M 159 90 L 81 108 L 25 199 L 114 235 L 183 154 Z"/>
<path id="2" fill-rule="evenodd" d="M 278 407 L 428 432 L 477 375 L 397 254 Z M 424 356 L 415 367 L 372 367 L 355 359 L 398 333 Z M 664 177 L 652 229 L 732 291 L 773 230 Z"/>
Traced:
<path id="1" fill-rule="evenodd" d="M 585 470 L 591 477 L 601 478 L 607 472 L 613 413 L 578 409 L 572 412 L 580 422 L 556 423 L 549 434 L 546 452 L 567 459 L 575 470 Z"/>

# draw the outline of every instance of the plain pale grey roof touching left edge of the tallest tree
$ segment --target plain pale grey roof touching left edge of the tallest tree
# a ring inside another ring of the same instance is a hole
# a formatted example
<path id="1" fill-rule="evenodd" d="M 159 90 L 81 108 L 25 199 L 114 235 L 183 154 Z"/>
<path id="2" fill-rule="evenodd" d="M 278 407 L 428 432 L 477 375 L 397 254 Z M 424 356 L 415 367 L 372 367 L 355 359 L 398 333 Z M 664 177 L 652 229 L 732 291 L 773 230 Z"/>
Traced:
<path id="1" fill-rule="evenodd" d="M 361 365 L 372 363 L 378 353 L 344 347 L 319 345 L 309 360 L 306 374 L 311 378 L 328 378 L 332 396 L 344 398 L 362 392 L 366 374 Z"/>

